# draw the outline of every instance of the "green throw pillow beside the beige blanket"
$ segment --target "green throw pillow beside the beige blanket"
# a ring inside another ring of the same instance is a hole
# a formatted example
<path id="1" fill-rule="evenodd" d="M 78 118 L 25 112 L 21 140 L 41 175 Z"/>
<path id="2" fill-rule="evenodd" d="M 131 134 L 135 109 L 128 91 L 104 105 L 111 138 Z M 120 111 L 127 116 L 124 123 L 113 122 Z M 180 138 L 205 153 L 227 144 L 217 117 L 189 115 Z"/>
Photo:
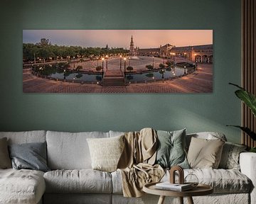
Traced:
<path id="1" fill-rule="evenodd" d="M 156 164 L 163 168 L 181 166 L 188 169 L 188 161 L 185 153 L 186 129 L 173 132 L 157 131 L 158 148 L 156 150 Z"/>

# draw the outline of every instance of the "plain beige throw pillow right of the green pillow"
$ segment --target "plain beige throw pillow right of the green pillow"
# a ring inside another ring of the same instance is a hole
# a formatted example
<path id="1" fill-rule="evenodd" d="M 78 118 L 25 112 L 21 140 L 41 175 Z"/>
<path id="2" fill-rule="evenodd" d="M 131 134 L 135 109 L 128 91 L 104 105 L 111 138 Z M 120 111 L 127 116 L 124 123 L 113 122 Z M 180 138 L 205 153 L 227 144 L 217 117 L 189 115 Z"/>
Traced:
<path id="1" fill-rule="evenodd" d="M 220 139 L 206 140 L 192 137 L 188 149 L 188 164 L 194 169 L 217 169 L 224 144 L 225 142 Z"/>

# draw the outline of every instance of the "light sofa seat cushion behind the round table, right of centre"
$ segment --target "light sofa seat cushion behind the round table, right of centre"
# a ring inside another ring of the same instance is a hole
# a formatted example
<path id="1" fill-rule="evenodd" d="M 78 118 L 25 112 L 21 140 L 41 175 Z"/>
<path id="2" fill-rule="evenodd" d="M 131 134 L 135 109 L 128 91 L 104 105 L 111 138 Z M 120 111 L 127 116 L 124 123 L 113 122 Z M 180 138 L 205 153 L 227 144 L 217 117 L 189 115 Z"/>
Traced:
<path id="1" fill-rule="evenodd" d="M 184 176 L 195 174 L 199 183 L 210 185 L 214 193 L 249 193 L 252 188 L 250 179 L 235 169 L 184 169 Z M 161 181 L 169 181 L 170 174 L 166 174 Z M 178 181 L 178 178 L 177 178 Z M 112 172 L 113 193 L 122 193 L 122 176 L 119 171 Z"/>

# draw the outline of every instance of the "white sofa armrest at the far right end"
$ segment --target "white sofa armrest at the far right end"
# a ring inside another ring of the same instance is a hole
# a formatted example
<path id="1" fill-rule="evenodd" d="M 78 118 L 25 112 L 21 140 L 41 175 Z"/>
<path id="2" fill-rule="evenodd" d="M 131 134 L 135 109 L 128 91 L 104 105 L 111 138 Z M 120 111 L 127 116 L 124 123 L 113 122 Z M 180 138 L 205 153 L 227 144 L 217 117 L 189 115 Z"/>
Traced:
<path id="1" fill-rule="evenodd" d="M 240 153 L 240 169 L 252 181 L 252 191 L 250 194 L 251 202 L 256 203 L 256 153 L 242 152 Z"/>

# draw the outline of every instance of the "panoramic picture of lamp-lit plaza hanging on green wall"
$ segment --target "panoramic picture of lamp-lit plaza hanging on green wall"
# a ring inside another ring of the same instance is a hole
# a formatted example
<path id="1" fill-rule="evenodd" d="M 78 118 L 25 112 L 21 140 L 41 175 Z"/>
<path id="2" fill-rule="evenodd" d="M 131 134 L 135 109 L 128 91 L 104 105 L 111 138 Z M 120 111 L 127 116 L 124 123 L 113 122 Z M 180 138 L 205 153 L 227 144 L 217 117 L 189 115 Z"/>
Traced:
<path id="1" fill-rule="evenodd" d="M 213 30 L 23 30 L 24 93 L 211 93 Z"/>

